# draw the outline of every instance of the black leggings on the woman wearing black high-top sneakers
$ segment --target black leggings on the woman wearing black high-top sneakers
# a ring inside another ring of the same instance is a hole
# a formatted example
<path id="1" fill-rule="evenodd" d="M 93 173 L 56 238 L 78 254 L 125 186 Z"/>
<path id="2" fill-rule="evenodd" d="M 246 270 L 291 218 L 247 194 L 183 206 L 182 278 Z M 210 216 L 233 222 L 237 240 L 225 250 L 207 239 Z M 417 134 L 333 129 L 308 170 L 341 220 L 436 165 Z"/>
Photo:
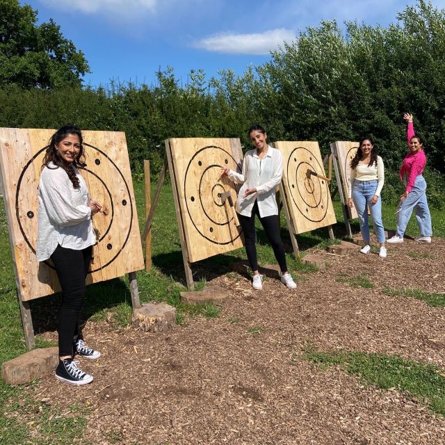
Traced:
<path id="1" fill-rule="evenodd" d="M 57 246 L 51 255 L 60 286 L 62 302 L 58 317 L 58 353 L 72 355 L 72 341 L 79 332 L 79 316 L 86 292 L 86 276 L 90 269 L 92 246 L 72 250 Z"/>

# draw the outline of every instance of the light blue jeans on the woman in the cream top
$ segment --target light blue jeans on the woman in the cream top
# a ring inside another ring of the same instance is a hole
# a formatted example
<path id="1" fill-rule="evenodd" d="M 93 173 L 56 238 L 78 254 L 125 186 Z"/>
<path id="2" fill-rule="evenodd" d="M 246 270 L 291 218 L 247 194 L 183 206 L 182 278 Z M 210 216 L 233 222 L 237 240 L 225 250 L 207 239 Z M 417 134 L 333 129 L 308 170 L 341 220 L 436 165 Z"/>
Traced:
<path id="1" fill-rule="evenodd" d="M 359 216 L 360 232 L 362 232 L 363 241 L 369 243 L 371 238 L 369 234 L 368 207 L 371 210 L 373 218 L 374 233 L 378 243 L 385 243 L 385 229 L 382 223 L 382 200 L 380 196 L 375 204 L 371 204 L 371 199 L 377 190 L 378 181 L 357 181 L 353 186 L 353 202 Z"/>

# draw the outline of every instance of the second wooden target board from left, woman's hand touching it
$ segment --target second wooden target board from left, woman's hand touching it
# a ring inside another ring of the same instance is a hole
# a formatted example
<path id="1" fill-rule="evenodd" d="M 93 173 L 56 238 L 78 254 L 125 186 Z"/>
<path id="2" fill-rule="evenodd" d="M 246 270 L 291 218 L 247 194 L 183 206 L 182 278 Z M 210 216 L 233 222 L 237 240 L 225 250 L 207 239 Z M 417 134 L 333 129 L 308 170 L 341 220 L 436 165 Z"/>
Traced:
<path id="1" fill-rule="evenodd" d="M 184 234 L 188 262 L 193 263 L 243 246 L 229 203 L 235 204 L 241 184 L 221 177 L 222 168 L 241 173 L 243 152 L 239 139 L 174 138 L 165 141 L 177 207 L 179 232 Z"/>

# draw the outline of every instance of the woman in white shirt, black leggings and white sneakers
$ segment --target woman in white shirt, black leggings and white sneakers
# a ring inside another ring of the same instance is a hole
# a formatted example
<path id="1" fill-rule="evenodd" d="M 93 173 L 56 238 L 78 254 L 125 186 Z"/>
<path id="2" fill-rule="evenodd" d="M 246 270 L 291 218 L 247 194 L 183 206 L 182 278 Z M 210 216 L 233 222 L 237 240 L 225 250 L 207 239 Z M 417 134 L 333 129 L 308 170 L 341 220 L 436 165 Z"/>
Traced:
<path id="1" fill-rule="evenodd" d="M 243 228 L 245 251 L 253 272 L 252 287 L 263 288 L 263 277 L 259 274 L 255 245 L 255 214 L 257 214 L 280 265 L 281 281 L 289 289 L 295 289 L 296 284 L 287 271 L 275 200 L 275 187 L 280 184 L 283 174 L 283 156 L 279 150 L 266 143 L 266 131 L 261 125 L 254 124 L 250 127 L 249 138 L 255 148 L 245 154 L 242 173 L 224 168 L 223 175 L 227 175 L 238 184 L 243 184 L 236 200 L 236 212 Z"/>

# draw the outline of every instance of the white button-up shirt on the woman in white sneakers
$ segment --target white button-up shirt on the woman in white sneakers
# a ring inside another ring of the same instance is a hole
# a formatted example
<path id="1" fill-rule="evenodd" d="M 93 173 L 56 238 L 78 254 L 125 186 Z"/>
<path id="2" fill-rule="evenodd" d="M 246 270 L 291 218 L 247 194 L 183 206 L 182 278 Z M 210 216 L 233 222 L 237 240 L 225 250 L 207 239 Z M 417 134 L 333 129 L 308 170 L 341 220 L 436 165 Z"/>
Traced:
<path id="1" fill-rule="evenodd" d="M 248 151 L 244 156 L 242 173 L 230 170 L 227 175 L 237 184 L 243 184 L 236 200 L 236 211 L 241 215 L 251 216 L 253 205 L 257 200 L 261 218 L 277 215 L 275 187 L 280 184 L 282 175 L 283 155 L 280 150 L 268 145 L 263 159 L 259 159 L 256 148 Z M 257 193 L 244 197 L 248 188 L 257 188 Z"/>

